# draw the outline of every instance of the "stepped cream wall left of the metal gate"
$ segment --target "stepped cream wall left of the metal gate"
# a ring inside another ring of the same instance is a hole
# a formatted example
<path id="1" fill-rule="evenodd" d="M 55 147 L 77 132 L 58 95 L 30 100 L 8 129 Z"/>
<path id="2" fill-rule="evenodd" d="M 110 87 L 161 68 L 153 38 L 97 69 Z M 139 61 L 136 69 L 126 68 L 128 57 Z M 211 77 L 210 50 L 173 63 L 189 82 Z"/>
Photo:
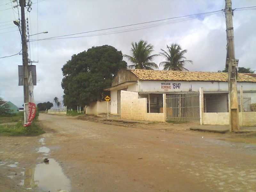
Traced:
<path id="1" fill-rule="evenodd" d="M 121 91 L 121 118 L 141 121 L 165 121 L 164 113 L 147 113 L 147 98 L 137 92 Z"/>

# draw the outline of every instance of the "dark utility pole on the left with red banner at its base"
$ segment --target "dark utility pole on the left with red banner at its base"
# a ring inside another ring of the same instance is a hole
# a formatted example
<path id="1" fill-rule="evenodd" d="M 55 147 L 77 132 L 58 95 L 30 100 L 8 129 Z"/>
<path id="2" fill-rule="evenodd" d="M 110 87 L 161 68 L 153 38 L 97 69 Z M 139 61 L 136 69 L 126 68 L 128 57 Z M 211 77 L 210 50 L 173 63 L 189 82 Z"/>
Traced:
<path id="1" fill-rule="evenodd" d="M 21 40 L 22 40 L 22 65 L 23 65 L 23 91 L 24 91 L 24 123 L 27 123 L 28 114 L 28 46 L 25 20 L 26 0 L 20 0 L 21 9 Z"/>

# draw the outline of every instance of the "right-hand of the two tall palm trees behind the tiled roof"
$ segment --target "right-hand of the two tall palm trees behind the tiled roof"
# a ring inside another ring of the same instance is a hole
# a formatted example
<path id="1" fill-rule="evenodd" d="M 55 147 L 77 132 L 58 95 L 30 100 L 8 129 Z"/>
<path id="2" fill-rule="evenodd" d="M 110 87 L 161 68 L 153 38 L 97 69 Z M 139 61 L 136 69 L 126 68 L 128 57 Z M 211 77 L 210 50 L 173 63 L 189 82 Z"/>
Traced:
<path id="1" fill-rule="evenodd" d="M 162 52 L 159 54 L 164 56 L 165 61 L 161 62 L 160 66 L 163 66 L 164 70 L 188 71 L 184 65 L 186 63 L 193 63 L 191 60 L 186 60 L 187 58 L 184 57 L 184 53 L 186 53 L 187 50 L 181 50 L 179 44 L 171 44 L 170 47 L 167 45 L 167 51 L 163 49 L 161 49 L 161 51 Z"/>

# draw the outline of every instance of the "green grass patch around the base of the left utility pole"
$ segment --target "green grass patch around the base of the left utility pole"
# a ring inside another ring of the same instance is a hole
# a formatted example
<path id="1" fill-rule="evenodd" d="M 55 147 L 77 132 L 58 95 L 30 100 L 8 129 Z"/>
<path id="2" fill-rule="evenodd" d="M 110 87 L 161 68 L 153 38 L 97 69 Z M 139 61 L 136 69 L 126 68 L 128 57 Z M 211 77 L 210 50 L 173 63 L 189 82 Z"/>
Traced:
<path id="1" fill-rule="evenodd" d="M 45 133 L 38 122 L 24 127 L 23 122 L 15 125 L 0 125 L 0 136 L 35 136 Z"/>

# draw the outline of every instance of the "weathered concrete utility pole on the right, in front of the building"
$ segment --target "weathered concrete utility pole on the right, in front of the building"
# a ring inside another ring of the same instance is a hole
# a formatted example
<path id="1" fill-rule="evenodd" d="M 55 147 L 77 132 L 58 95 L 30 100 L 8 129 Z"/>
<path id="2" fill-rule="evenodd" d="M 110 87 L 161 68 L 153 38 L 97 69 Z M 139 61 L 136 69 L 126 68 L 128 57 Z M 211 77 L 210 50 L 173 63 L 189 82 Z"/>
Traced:
<path id="1" fill-rule="evenodd" d="M 227 32 L 227 60 L 228 67 L 228 95 L 229 95 L 229 127 L 230 132 L 239 130 L 239 109 L 237 99 L 237 70 L 238 61 L 235 59 L 233 10 L 231 0 L 225 0 L 226 32 Z"/>

